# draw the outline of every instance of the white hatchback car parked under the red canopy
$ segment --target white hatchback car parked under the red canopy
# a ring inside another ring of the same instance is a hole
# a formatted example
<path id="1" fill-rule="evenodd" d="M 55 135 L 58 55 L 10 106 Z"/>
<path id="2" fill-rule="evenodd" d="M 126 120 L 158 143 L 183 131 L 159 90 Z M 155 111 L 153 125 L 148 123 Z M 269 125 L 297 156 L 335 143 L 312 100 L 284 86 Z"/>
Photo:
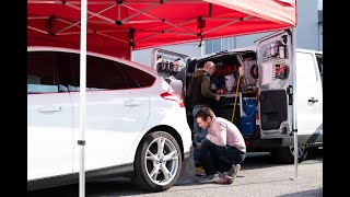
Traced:
<path id="1" fill-rule="evenodd" d="M 79 53 L 27 47 L 28 190 L 79 182 Z M 86 65 L 86 181 L 172 187 L 191 144 L 182 97 L 152 68 L 95 53 Z"/>

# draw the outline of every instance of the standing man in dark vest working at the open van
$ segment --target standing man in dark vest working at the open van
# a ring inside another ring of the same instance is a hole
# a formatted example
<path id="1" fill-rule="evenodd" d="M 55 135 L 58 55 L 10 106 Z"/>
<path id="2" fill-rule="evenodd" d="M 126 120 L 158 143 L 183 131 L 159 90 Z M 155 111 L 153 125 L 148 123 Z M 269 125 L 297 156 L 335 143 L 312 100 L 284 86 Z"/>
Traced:
<path id="1" fill-rule="evenodd" d="M 192 115 L 194 115 L 194 144 L 205 139 L 207 135 L 206 129 L 200 129 L 196 121 L 195 115 L 202 106 L 210 106 L 212 101 L 219 101 L 220 95 L 217 95 L 210 91 L 210 76 L 215 71 L 215 65 L 212 61 L 207 61 L 201 69 L 195 71 L 194 77 L 190 79 L 187 90 L 187 96 L 192 99 Z M 194 159 L 196 166 L 200 166 L 198 160 L 200 154 L 199 148 L 195 147 Z"/>

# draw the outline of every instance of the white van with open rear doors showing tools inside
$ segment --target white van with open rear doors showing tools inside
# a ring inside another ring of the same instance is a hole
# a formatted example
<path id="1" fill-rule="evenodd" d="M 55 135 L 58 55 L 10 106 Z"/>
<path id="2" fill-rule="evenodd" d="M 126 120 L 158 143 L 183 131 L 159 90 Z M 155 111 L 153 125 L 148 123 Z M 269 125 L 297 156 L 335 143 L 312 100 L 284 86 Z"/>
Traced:
<path id="1" fill-rule="evenodd" d="M 166 57 L 163 49 L 154 49 L 153 55 L 160 53 Z M 217 116 L 238 126 L 247 150 L 268 151 L 283 162 L 293 163 L 296 131 L 299 162 L 304 161 L 310 148 L 323 144 L 323 53 L 295 49 L 295 54 L 296 74 L 293 74 L 292 34 L 287 30 L 259 39 L 254 47 L 200 58 L 182 56 L 187 62 L 183 96 L 189 126 L 192 127 L 194 119 L 191 97 L 186 96 L 188 82 L 195 70 L 210 60 L 217 65 L 210 89 L 222 95 L 211 108 Z M 296 113 L 294 130 L 293 113 Z"/>

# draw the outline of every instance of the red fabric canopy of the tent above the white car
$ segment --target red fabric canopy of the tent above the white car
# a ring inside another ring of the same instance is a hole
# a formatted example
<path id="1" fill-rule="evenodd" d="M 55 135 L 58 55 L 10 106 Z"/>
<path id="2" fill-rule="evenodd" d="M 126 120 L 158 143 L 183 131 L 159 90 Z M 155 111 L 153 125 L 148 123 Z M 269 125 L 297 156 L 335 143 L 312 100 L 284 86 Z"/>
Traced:
<path id="1" fill-rule="evenodd" d="M 80 47 L 80 0 L 27 0 L 27 45 Z M 88 50 L 133 50 L 289 28 L 295 0 L 88 0 Z"/>

